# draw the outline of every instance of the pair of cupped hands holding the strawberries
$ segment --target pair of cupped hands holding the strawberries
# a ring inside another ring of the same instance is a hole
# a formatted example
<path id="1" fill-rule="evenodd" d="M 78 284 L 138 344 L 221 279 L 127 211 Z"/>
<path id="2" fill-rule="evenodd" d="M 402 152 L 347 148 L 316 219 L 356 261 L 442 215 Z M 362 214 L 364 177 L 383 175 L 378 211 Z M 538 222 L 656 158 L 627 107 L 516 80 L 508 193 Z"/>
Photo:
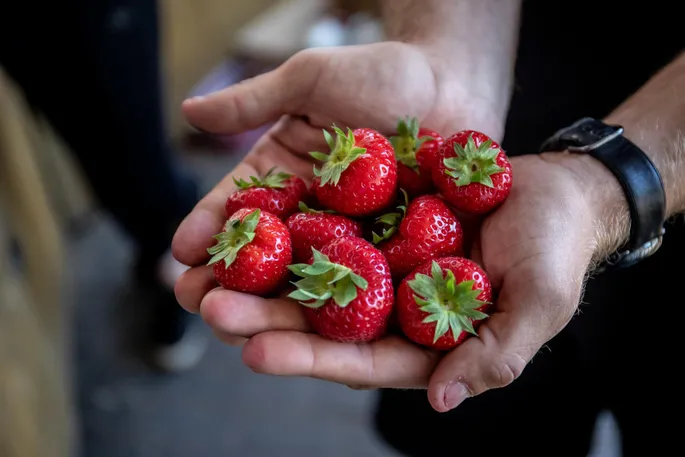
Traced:
<path id="1" fill-rule="evenodd" d="M 474 129 L 500 139 L 504 119 L 497 113 L 505 110 L 473 89 L 473 77 L 442 68 L 419 46 L 386 42 L 306 50 L 269 73 L 186 100 L 184 115 L 204 132 L 234 134 L 276 123 L 179 226 L 173 253 L 192 267 L 176 284 L 181 306 L 199 313 L 221 341 L 242 345 L 244 363 L 258 373 L 356 389 L 427 389 L 439 412 L 514 382 L 574 315 L 596 245 L 592 199 L 568 154 L 511 160 L 511 194 L 478 221 L 471 248 L 498 292 L 496 311 L 479 337 L 449 353 L 398 336 L 369 345 L 323 339 L 297 302 L 217 288 L 206 266 L 212 235 L 226 219 L 231 177 L 277 166 L 311 178 L 308 152 L 325 148 L 322 129 L 333 124 L 390 134 L 398 118 L 410 115 L 443 135 Z"/>

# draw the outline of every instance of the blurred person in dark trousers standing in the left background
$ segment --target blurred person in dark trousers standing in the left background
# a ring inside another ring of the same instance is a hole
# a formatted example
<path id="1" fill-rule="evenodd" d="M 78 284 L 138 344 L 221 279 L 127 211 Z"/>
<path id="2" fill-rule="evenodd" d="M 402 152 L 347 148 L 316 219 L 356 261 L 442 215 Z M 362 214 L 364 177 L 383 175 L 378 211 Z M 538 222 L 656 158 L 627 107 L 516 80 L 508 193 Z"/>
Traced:
<path id="1" fill-rule="evenodd" d="M 0 65 L 67 142 L 100 204 L 135 241 L 136 279 L 146 314 L 155 316 L 144 354 L 175 371 L 204 350 L 191 315 L 174 298 L 183 267 L 169 253 L 198 192 L 165 132 L 157 14 L 155 0 L 11 2 L 0 13 Z"/>

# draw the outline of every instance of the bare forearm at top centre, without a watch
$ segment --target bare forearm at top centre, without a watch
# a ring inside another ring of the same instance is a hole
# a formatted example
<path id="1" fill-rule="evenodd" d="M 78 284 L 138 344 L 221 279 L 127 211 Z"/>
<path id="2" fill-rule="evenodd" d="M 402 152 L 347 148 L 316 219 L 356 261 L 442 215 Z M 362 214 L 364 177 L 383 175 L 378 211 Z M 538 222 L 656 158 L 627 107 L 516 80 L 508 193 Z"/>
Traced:
<path id="1" fill-rule="evenodd" d="M 521 0 L 382 0 L 382 7 L 389 40 L 425 47 L 441 71 L 468 81 L 505 119 Z"/>

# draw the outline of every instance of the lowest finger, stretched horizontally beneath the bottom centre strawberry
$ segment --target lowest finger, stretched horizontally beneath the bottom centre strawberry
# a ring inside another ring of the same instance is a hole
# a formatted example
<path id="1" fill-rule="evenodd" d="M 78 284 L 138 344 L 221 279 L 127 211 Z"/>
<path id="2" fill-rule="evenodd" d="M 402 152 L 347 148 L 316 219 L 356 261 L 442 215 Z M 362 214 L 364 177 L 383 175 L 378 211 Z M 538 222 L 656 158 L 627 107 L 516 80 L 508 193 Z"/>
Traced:
<path id="1" fill-rule="evenodd" d="M 395 336 L 355 345 L 312 333 L 275 331 L 255 335 L 243 347 L 243 362 L 258 373 L 365 388 L 425 388 L 437 360 L 435 352 Z"/>

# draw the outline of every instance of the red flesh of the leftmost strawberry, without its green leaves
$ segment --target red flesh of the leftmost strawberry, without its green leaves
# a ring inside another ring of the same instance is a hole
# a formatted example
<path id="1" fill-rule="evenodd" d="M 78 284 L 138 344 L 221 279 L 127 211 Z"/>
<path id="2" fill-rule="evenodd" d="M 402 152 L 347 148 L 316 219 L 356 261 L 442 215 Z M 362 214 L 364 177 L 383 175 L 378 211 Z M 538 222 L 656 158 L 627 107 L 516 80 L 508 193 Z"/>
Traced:
<path id="1" fill-rule="evenodd" d="M 252 211 L 254 208 L 240 209 L 230 219 L 242 220 Z M 284 285 L 291 262 L 288 229 L 279 218 L 262 211 L 254 239 L 240 249 L 235 261 L 226 268 L 221 260 L 212 268 L 221 287 L 264 296 Z"/>

